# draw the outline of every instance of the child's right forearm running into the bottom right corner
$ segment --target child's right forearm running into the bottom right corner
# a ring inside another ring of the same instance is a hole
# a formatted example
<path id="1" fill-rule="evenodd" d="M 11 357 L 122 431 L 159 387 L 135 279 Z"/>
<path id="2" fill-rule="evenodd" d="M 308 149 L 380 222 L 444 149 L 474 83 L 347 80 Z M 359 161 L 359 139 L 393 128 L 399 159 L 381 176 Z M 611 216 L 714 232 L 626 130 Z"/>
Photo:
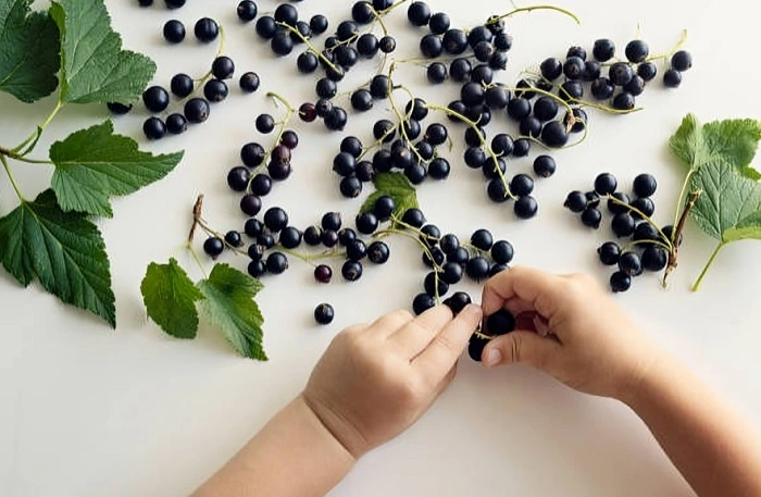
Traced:
<path id="1" fill-rule="evenodd" d="M 761 439 L 677 361 L 659 361 L 623 400 L 698 495 L 761 495 Z"/>

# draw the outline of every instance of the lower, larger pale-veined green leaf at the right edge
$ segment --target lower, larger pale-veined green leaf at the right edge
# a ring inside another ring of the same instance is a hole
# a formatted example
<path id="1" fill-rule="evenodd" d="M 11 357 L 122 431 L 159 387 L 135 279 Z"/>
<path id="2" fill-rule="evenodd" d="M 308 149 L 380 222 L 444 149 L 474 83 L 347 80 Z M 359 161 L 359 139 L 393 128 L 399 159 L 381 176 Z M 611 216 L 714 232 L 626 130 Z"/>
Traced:
<path id="1" fill-rule="evenodd" d="M 726 232 L 761 210 L 761 183 L 743 176 L 726 161 L 703 165 L 693 177 L 691 190 L 702 194 L 690 215 L 718 240 L 731 241 Z"/>

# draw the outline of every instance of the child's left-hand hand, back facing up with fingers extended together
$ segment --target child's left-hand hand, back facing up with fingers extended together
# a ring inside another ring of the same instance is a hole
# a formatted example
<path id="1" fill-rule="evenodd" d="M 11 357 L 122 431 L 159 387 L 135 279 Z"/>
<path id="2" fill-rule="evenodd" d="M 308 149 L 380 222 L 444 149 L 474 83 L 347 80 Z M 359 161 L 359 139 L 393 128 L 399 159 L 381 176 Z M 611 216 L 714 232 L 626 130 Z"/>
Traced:
<path id="1" fill-rule="evenodd" d="M 457 318 L 446 306 L 407 311 L 344 331 L 317 363 L 303 398 L 352 456 L 414 423 L 454 377 L 456 363 L 482 319 L 477 306 Z"/>

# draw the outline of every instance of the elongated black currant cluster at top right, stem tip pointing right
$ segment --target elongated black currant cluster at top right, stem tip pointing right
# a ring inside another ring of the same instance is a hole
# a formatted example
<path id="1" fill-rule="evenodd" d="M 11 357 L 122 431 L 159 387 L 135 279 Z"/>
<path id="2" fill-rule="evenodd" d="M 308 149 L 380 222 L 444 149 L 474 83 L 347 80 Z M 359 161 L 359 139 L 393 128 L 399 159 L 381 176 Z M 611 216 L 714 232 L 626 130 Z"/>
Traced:
<path id="1" fill-rule="evenodd" d="M 658 75 L 657 61 L 671 57 L 672 67 L 663 74 L 663 83 L 670 88 L 679 86 L 682 72 L 693 65 L 688 52 L 651 55 L 648 44 L 640 39 L 629 41 L 624 53 L 625 60 L 617 59 L 615 44 L 610 39 L 595 41 L 591 57 L 582 47 L 571 47 L 562 61 L 546 59 L 539 67 L 541 79 L 532 84 L 545 91 L 554 91 L 571 103 L 584 103 L 588 90 L 594 99 L 609 102 L 609 110 L 628 112 L 636 108 L 636 98 Z"/>

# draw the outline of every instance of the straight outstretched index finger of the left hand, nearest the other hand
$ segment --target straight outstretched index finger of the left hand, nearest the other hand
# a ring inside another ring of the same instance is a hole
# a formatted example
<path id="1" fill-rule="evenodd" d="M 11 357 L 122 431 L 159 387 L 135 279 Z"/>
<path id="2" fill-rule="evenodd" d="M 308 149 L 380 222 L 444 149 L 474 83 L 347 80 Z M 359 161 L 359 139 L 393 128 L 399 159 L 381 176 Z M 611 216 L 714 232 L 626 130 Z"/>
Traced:
<path id="1" fill-rule="evenodd" d="M 467 306 L 412 361 L 413 366 L 420 368 L 432 385 L 438 385 L 457 363 L 482 318 L 481 307 Z"/>

